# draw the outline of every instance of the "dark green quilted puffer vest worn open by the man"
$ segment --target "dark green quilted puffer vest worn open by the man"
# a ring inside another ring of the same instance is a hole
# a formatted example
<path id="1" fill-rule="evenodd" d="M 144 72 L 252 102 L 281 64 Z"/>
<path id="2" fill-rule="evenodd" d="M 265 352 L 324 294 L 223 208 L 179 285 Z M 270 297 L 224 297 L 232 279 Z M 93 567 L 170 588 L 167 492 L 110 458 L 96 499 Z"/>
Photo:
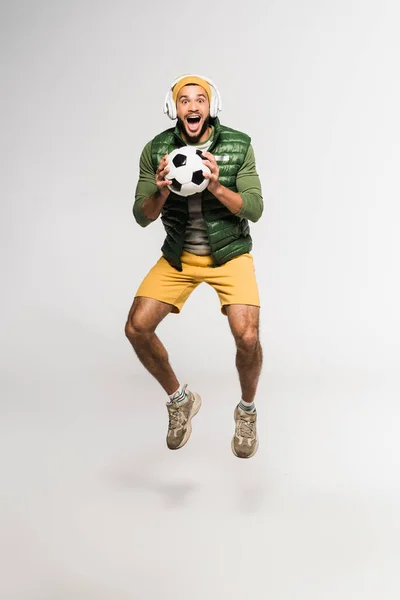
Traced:
<path id="1" fill-rule="evenodd" d="M 250 137 L 221 125 L 218 118 L 211 119 L 210 123 L 214 126 L 214 139 L 209 152 L 216 157 L 219 180 L 223 186 L 237 192 L 236 174 L 244 162 Z M 185 145 L 178 126 L 157 135 L 151 146 L 154 171 L 165 154 Z M 225 157 L 225 160 L 219 160 L 218 157 Z M 202 194 L 202 213 L 214 261 L 211 266 L 218 267 L 235 256 L 250 252 L 253 243 L 247 219 L 231 213 L 207 188 Z M 171 192 L 161 212 L 161 220 L 167 233 L 161 251 L 178 271 L 182 271 L 181 254 L 188 218 L 187 198 Z"/>

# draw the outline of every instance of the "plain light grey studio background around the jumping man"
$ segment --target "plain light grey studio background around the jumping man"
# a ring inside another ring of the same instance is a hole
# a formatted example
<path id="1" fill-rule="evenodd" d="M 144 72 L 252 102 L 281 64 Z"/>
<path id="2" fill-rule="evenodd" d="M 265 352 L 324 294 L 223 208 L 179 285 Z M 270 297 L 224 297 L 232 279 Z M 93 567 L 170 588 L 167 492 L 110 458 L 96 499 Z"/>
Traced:
<path id="1" fill-rule="evenodd" d="M 1 596 L 398 598 L 400 9 L 395 2 L 1 3 Z M 216 294 L 160 327 L 203 397 L 124 338 L 160 222 L 131 207 L 168 86 L 205 74 L 252 137 L 260 450 Z"/>

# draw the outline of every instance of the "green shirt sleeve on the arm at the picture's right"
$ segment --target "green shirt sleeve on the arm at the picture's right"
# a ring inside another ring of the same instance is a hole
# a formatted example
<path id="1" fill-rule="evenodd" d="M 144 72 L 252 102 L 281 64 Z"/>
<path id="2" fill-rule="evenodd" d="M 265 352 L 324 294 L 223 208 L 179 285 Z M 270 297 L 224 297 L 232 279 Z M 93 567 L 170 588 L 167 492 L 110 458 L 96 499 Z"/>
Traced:
<path id="1" fill-rule="evenodd" d="M 254 223 L 261 217 L 264 203 L 261 182 L 256 169 L 254 150 L 250 144 L 243 165 L 236 176 L 236 188 L 242 197 L 243 205 L 237 214 Z"/>

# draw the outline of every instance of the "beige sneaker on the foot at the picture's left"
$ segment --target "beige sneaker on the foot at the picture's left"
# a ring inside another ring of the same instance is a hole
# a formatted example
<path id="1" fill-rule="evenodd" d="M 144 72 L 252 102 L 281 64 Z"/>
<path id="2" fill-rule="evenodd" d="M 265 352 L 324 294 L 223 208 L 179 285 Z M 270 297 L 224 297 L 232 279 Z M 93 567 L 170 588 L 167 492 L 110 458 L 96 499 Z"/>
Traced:
<path id="1" fill-rule="evenodd" d="M 186 386 L 185 386 L 186 387 Z M 187 390 L 184 402 L 167 402 L 169 415 L 167 446 L 170 450 L 178 450 L 186 444 L 192 433 L 192 419 L 200 410 L 199 394 Z"/>

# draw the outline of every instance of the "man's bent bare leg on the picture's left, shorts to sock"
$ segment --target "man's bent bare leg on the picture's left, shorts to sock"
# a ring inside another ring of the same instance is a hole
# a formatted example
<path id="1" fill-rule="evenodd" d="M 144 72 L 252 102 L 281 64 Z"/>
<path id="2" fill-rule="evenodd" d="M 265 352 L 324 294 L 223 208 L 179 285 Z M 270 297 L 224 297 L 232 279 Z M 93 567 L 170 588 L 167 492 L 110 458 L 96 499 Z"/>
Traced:
<path id="1" fill-rule="evenodd" d="M 137 297 L 125 325 L 125 335 L 140 362 L 157 379 L 167 394 L 176 392 L 179 381 L 169 364 L 167 350 L 154 332 L 172 308 L 171 304 L 153 298 Z"/>

